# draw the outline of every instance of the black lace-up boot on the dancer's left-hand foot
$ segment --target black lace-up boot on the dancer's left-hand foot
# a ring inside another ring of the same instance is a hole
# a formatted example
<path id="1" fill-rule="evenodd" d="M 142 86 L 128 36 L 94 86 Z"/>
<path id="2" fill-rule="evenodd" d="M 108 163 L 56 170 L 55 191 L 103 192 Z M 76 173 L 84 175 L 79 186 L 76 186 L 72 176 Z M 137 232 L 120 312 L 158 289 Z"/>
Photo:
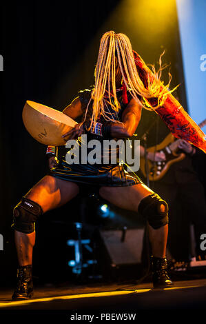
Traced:
<path id="1" fill-rule="evenodd" d="M 33 295 L 32 265 L 19 266 L 17 269 L 17 287 L 12 299 L 21 301 Z"/>

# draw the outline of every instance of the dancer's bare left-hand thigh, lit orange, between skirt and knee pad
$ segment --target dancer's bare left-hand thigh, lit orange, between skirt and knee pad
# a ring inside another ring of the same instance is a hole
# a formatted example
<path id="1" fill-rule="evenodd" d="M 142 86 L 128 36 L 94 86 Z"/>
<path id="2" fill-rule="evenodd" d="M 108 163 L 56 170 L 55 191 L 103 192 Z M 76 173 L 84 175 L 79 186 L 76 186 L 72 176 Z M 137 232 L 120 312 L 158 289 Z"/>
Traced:
<path id="1" fill-rule="evenodd" d="M 25 197 L 39 203 L 43 212 L 48 212 L 56 207 L 68 203 L 79 194 L 76 183 L 57 179 L 54 176 L 44 176 Z"/>

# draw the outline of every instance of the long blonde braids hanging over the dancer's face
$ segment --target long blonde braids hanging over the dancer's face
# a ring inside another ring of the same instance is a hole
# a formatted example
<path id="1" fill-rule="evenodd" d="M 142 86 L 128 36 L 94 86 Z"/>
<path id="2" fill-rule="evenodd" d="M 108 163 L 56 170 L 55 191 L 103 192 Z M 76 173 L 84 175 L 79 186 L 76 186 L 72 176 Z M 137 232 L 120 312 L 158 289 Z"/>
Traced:
<path id="1" fill-rule="evenodd" d="M 167 90 L 167 88 L 169 88 L 171 78 L 169 78 L 169 83 L 165 85 L 165 87 L 163 87 L 163 83 L 161 83 L 161 71 L 163 70 L 163 68 L 161 68 L 162 55 L 159 60 L 160 69 L 158 72 L 156 72 L 154 66 L 152 66 L 154 77 L 152 80 L 148 77 L 148 86 L 145 88 L 145 85 L 143 84 L 143 81 L 141 81 L 136 69 L 130 39 L 125 34 L 115 34 L 114 31 L 105 32 L 101 38 L 99 55 L 94 72 L 95 86 L 94 90 L 92 90 L 91 96 L 91 100 L 93 99 L 92 121 L 96 121 L 99 114 L 101 114 L 106 120 L 112 120 L 112 117 L 108 116 L 104 109 L 103 99 L 106 86 L 108 92 L 108 102 L 114 111 L 119 111 L 120 104 L 116 97 L 116 53 L 121 70 L 121 76 L 127 90 L 130 91 L 132 97 L 134 97 L 143 108 L 148 109 L 148 103 L 145 105 L 138 99 L 138 96 L 143 97 L 143 99 L 156 97 L 158 98 L 159 106 L 163 105 L 167 94 L 174 91 L 174 89 L 172 91 Z M 112 89 L 110 82 L 112 84 Z M 87 108 L 89 105 L 90 102 L 88 103 Z M 154 108 L 152 108 L 152 106 L 150 107 L 149 105 L 149 109 Z"/>

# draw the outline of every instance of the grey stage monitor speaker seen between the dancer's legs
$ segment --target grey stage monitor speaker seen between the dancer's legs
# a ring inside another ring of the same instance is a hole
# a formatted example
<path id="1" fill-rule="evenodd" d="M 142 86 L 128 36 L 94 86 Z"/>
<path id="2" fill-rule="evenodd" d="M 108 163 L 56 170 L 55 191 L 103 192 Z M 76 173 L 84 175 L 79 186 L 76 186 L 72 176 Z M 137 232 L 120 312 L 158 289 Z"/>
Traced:
<path id="1" fill-rule="evenodd" d="M 101 237 L 113 265 L 139 264 L 145 228 L 101 230 Z"/>

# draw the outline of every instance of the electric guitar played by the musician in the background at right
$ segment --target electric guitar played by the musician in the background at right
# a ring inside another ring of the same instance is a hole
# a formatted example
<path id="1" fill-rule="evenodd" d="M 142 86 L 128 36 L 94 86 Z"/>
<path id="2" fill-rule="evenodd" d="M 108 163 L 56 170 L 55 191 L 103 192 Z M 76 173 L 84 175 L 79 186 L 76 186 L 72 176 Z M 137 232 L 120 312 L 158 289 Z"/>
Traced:
<path id="1" fill-rule="evenodd" d="M 200 128 L 203 128 L 205 125 L 206 119 L 202 121 L 202 123 L 198 124 Z M 182 140 L 175 139 L 174 135 L 169 133 L 161 143 L 147 149 L 147 152 L 153 152 L 154 154 L 156 152 L 165 153 L 165 161 L 150 161 L 147 159 L 150 181 L 158 181 L 162 179 L 172 164 L 185 159 L 186 154 L 181 152 L 178 148 L 180 141 Z M 145 157 L 141 157 L 140 159 L 140 169 L 146 178 Z"/>

